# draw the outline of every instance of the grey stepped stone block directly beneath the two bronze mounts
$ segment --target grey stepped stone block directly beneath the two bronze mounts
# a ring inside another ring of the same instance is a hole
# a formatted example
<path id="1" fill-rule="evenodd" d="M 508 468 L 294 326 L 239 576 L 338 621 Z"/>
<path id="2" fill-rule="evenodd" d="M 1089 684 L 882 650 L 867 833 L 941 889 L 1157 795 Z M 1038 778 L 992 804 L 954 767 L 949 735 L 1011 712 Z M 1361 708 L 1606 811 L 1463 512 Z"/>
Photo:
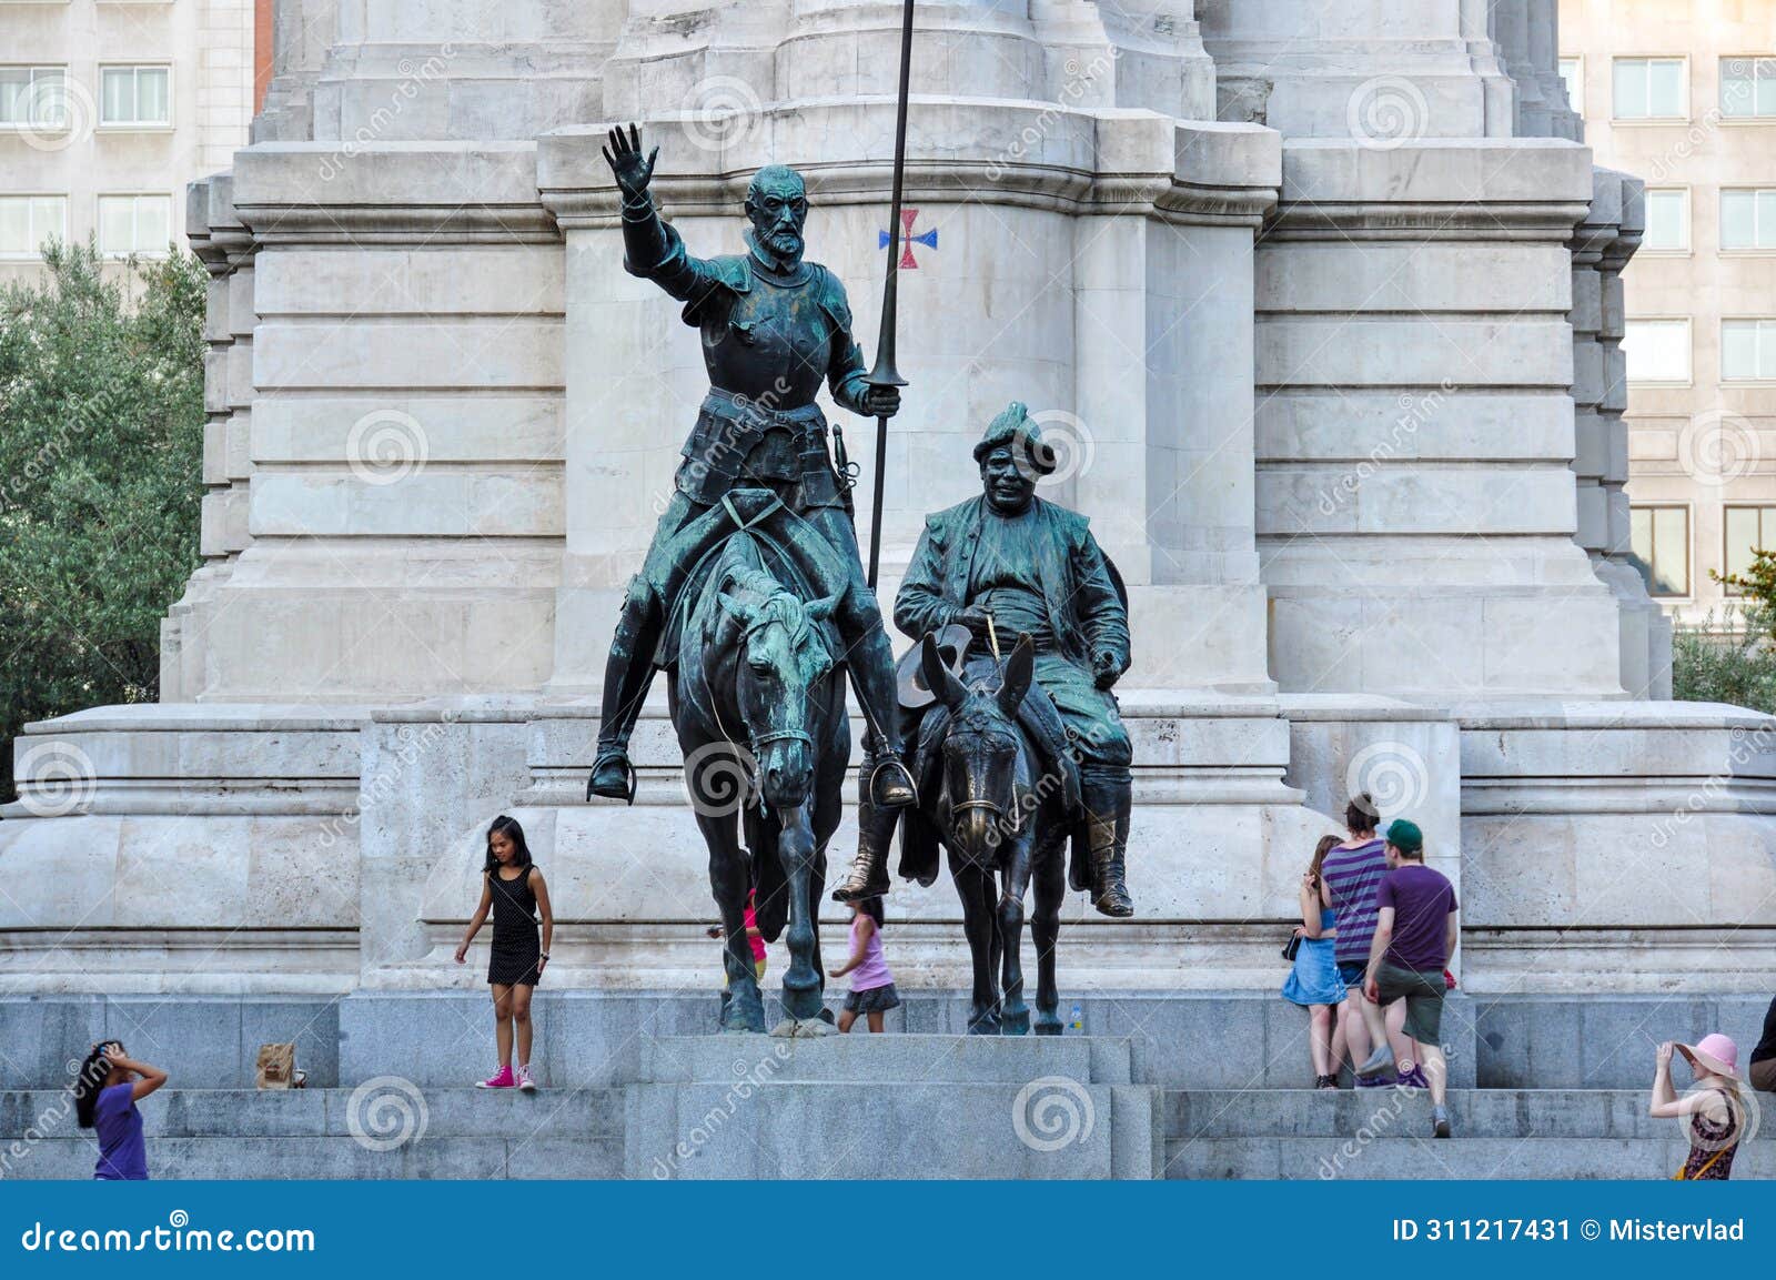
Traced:
<path id="1" fill-rule="evenodd" d="M 627 1177 L 1153 1177 L 1158 1094 L 1126 1040 L 764 1035 L 655 1040 L 625 1097 Z M 1094 1067 L 1101 1067 L 1099 1078 Z"/>

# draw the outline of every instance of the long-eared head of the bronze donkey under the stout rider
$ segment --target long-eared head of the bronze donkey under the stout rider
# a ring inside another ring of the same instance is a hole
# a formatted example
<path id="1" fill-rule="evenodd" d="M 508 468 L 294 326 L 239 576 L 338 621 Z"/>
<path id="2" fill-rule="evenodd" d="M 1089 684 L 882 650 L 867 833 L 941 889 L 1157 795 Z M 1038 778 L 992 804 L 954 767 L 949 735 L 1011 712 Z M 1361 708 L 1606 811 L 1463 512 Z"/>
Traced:
<path id="1" fill-rule="evenodd" d="M 1005 660 L 998 689 L 959 680 L 938 653 L 932 637 L 920 650 L 925 685 L 948 708 L 943 731 L 943 790 L 948 797 L 947 843 L 964 859 L 991 866 L 1000 847 L 1025 820 L 1018 797 L 1018 755 L 1023 731 L 1018 707 L 1030 692 L 1035 646 L 1028 636 Z"/>

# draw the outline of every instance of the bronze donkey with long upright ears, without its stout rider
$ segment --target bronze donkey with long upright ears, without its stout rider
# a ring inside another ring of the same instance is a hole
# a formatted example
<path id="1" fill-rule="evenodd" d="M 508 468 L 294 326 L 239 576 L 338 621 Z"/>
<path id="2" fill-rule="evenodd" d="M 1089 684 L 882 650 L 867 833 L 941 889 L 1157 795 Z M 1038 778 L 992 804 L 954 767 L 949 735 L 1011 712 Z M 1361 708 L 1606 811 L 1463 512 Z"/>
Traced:
<path id="1" fill-rule="evenodd" d="M 1000 678 L 991 659 L 957 678 L 931 636 L 920 669 L 945 715 L 940 737 L 941 786 L 924 788 L 920 818 L 948 852 L 950 879 L 963 900 L 963 930 L 973 959 L 970 1035 L 1027 1035 L 1023 998 L 1025 893 L 1035 884 L 1035 1033 L 1060 1035 L 1055 939 L 1067 893 L 1066 845 L 1073 824 L 1058 778 L 1044 772 L 1018 707 L 1030 694 L 1035 652 L 1018 641 Z M 1003 982 L 1003 989 L 1002 984 Z"/>

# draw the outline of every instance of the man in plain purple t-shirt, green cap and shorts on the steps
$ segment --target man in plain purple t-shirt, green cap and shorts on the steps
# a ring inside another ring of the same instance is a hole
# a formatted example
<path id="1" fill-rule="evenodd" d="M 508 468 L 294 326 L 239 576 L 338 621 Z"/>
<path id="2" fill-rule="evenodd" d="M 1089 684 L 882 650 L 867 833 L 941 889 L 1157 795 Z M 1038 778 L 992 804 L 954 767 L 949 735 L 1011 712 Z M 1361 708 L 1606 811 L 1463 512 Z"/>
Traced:
<path id="1" fill-rule="evenodd" d="M 1382 1033 L 1382 1005 L 1407 1001 L 1407 1037 L 1417 1063 L 1431 1086 L 1431 1131 L 1449 1136 L 1446 1106 L 1449 1063 L 1442 1051 L 1442 998 L 1447 991 L 1444 968 L 1455 955 L 1455 886 L 1442 872 L 1424 865 L 1424 834 L 1417 824 L 1394 820 L 1387 827 L 1387 875 L 1375 889 L 1375 941 L 1369 943 L 1369 968 L 1364 973 L 1362 1017 L 1369 1033 Z M 1376 1051 L 1357 1067 L 1359 1076 L 1387 1071 L 1392 1051 L 1376 1039 Z M 1401 1062 L 1399 1074 L 1414 1063 Z"/>

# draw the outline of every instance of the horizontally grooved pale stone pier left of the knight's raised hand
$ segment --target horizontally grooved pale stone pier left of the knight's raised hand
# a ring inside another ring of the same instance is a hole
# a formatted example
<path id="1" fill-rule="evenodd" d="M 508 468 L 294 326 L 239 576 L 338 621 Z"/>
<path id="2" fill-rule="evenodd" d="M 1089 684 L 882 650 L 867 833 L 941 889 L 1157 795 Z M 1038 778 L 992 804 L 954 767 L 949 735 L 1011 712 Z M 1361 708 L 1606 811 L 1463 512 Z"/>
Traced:
<path id="1" fill-rule="evenodd" d="M 226 383 L 250 396 L 252 540 L 217 586 L 199 696 L 536 689 L 561 536 L 561 249 L 535 144 L 258 144 L 233 202 L 254 254 L 236 318 L 252 341 Z"/>

